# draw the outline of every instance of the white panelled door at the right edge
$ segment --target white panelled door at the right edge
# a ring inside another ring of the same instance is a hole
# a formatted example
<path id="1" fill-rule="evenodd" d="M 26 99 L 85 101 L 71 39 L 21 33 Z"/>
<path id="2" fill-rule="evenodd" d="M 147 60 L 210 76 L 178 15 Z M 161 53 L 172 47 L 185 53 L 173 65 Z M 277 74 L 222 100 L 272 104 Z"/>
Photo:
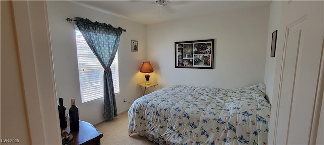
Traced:
<path id="1" fill-rule="evenodd" d="M 274 105 L 276 108 L 272 108 L 275 111 L 272 117 L 276 118 L 274 144 L 316 142 L 310 138 L 316 135 L 312 133 L 312 126 L 318 125 L 314 116 L 319 113 L 314 112 L 320 111 L 316 101 L 321 100 L 318 92 L 323 89 L 319 80 L 323 6 L 323 1 L 285 1 L 282 4 L 274 82 L 278 102 Z"/>

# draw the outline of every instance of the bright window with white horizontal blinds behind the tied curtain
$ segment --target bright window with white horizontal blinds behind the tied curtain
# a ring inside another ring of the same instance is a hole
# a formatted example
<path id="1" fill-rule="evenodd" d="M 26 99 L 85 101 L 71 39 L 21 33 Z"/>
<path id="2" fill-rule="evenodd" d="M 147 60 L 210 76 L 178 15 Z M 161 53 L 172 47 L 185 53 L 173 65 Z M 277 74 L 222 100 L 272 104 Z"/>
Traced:
<path id="1" fill-rule="evenodd" d="M 86 40 L 75 25 L 77 60 L 79 67 L 81 102 L 103 97 L 103 73 L 100 62 L 89 48 Z M 118 52 L 110 66 L 115 93 L 119 93 Z"/>

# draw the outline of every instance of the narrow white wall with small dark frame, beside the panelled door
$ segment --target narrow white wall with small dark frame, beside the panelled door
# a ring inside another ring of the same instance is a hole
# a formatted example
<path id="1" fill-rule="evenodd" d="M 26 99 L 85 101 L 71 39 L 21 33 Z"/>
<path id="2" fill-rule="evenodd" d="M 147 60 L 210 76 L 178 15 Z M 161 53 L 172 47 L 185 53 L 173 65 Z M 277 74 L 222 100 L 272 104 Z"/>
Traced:
<path id="1" fill-rule="evenodd" d="M 270 16 L 269 16 L 269 29 L 268 29 L 268 43 L 267 43 L 267 55 L 264 72 L 264 83 L 267 93 L 267 100 L 272 104 L 273 85 L 274 85 L 274 74 L 275 74 L 275 57 L 270 57 L 271 54 L 271 42 L 272 33 L 280 28 L 281 19 L 281 7 L 282 1 L 272 1 L 270 5 Z"/>

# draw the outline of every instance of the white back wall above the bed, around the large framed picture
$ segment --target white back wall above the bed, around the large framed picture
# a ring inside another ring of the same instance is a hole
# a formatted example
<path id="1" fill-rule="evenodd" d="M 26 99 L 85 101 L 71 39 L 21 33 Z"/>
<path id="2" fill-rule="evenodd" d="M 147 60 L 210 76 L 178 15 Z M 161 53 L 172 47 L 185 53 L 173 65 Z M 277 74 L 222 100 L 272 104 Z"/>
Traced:
<path id="1" fill-rule="evenodd" d="M 159 87 L 238 88 L 264 81 L 269 6 L 147 26 L 147 60 Z M 174 68 L 174 42 L 215 39 L 214 69 Z"/>

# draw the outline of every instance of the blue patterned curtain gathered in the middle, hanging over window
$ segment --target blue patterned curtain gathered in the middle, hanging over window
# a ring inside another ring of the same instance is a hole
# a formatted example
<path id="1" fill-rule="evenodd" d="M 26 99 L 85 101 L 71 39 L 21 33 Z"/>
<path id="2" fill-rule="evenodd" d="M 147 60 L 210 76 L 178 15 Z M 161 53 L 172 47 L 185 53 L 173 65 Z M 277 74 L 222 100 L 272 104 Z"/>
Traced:
<path id="1" fill-rule="evenodd" d="M 74 22 L 87 41 L 90 49 L 95 54 L 104 71 L 104 117 L 106 120 L 113 120 L 117 116 L 115 92 L 112 82 L 110 65 L 115 58 L 121 31 L 110 24 L 91 22 L 89 19 L 75 17 Z"/>

